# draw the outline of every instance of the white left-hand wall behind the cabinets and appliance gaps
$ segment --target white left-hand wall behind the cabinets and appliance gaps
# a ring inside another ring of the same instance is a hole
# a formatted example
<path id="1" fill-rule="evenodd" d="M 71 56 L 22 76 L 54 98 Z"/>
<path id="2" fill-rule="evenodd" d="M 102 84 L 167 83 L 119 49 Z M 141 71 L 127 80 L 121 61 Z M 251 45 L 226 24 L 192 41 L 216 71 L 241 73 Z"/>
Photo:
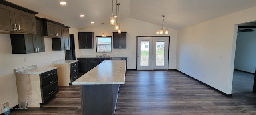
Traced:
<path id="1" fill-rule="evenodd" d="M 70 34 L 77 33 L 74 28 L 70 30 Z M 10 107 L 14 107 L 19 103 L 14 69 L 30 65 L 53 67 L 54 60 L 65 58 L 64 51 L 52 51 L 51 38 L 44 38 L 44 43 L 45 52 L 12 54 L 10 34 L 0 34 L 0 104 L 9 101 Z M 24 62 L 25 57 L 27 62 Z"/>

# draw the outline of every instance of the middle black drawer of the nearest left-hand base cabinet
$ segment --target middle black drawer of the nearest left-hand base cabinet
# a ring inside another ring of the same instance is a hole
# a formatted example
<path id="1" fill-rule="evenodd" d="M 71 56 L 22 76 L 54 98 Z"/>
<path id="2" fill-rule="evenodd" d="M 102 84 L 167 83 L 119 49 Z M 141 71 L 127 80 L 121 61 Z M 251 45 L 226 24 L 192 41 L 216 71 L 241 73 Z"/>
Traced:
<path id="1" fill-rule="evenodd" d="M 55 85 L 57 83 L 58 83 L 57 75 L 54 75 L 52 77 L 42 80 L 42 91 L 44 91 L 45 89 L 48 89 L 49 87 L 51 87 L 52 85 Z"/>

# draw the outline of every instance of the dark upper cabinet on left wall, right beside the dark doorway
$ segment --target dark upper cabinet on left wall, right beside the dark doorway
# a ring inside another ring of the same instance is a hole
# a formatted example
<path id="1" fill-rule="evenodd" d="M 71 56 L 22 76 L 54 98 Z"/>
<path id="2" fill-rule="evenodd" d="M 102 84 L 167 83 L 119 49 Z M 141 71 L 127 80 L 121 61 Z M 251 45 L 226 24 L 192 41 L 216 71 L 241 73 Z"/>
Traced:
<path id="1" fill-rule="evenodd" d="M 52 38 L 52 50 L 70 50 L 69 28 L 63 26 L 63 38 Z"/>

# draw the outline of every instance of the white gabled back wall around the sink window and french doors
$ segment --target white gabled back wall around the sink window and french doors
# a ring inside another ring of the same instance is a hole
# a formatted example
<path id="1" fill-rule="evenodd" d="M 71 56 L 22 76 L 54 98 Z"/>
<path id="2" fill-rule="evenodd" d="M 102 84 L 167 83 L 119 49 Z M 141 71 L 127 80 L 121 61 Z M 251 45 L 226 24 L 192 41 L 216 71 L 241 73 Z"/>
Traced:
<path id="1" fill-rule="evenodd" d="M 111 54 L 126 54 L 127 58 L 127 69 L 136 69 L 136 44 L 137 36 L 159 36 L 156 34 L 156 30 L 162 28 L 162 26 L 154 25 L 148 22 L 143 22 L 140 20 L 135 20 L 132 18 L 126 18 L 120 20 L 120 28 L 122 31 L 127 31 L 126 35 L 126 49 L 112 49 L 112 53 L 106 53 L 107 55 Z M 166 28 L 166 27 L 164 27 Z M 170 36 L 170 52 L 169 52 L 169 67 L 168 69 L 176 68 L 176 43 L 177 43 L 177 30 L 169 29 L 169 34 L 163 34 L 162 36 Z M 79 31 L 92 31 L 95 36 L 102 36 L 102 25 L 95 26 L 93 28 L 87 28 Z M 113 36 L 114 26 L 110 26 L 108 22 L 104 22 L 104 34 L 105 36 Z M 78 39 L 78 38 L 77 38 Z M 94 41 L 94 46 L 95 45 Z M 78 48 L 78 42 L 76 42 L 76 48 Z M 81 54 L 101 54 L 96 53 L 96 48 L 94 49 L 79 49 L 79 53 L 76 53 L 76 57 L 79 57 Z"/>

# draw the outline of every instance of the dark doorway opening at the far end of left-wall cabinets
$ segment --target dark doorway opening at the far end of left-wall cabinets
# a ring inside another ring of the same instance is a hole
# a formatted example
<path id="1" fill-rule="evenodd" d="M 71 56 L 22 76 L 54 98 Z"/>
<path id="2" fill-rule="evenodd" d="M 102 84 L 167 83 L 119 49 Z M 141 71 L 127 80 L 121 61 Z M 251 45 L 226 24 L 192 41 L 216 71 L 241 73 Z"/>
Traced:
<path id="1" fill-rule="evenodd" d="M 65 60 L 76 60 L 74 34 L 69 34 L 69 38 L 70 38 L 70 50 L 65 50 Z"/>

